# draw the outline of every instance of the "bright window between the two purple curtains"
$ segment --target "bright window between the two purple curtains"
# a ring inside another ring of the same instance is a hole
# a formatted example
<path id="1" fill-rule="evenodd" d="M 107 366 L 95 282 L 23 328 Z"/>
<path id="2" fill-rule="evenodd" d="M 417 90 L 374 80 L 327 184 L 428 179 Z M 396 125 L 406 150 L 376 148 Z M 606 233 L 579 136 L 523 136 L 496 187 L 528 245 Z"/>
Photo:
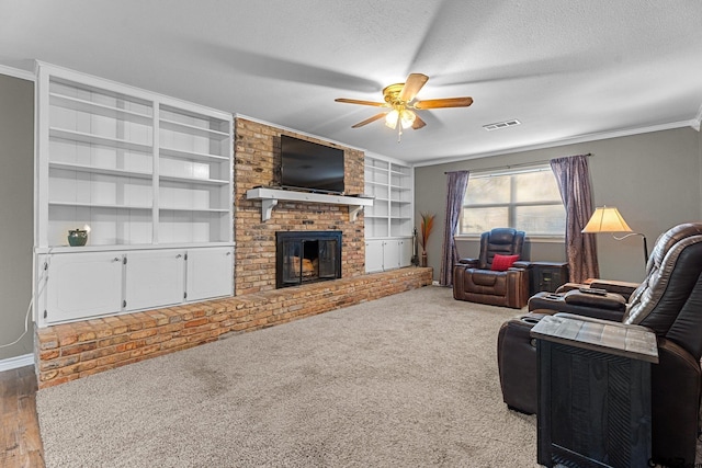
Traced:
<path id="1" fill-rule="evenodd" d="M 480 235 L 500 227 L 531 237 L 565 235 L 566 212 L 550 167 L 471 174 L 458 233 Z"/>

